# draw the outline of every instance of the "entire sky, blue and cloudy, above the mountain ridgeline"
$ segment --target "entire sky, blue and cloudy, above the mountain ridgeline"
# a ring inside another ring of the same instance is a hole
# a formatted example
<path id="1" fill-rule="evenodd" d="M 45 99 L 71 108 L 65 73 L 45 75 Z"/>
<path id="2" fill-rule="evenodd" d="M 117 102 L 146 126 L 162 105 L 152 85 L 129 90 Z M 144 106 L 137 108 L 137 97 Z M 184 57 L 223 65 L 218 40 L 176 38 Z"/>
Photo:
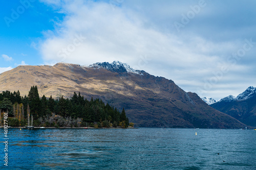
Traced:
<path id="1" fill-rule="evenodd" d="M 220 100 L 256 86 L 256 1 L 1 1 L 0 72 L 121 61 Z"/>

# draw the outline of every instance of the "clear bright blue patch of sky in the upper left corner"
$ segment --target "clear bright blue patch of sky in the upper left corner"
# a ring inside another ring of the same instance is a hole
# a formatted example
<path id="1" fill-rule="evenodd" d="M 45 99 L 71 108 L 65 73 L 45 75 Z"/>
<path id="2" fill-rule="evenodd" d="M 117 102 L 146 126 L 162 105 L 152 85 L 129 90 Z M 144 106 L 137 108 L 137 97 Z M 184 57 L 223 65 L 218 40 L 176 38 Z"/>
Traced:
<path id="1" fill-rule="evenodd" d="M 45 40 L 44 32 L 54 29 L 54 20 L 63 19 L 51 6 L 38 1 L 1 1 L 0 67 L 16 67 L 24 61 L 29 65 L 44 63 L 38 43 Z M 29 4 L 28 4 L 29 3 Z M 13 12 L 13 10 L 15 12 Z M 18 13 L 19 12 L 19 13 Z M 18 15 L 15 15 L 18 14 Z"/>

